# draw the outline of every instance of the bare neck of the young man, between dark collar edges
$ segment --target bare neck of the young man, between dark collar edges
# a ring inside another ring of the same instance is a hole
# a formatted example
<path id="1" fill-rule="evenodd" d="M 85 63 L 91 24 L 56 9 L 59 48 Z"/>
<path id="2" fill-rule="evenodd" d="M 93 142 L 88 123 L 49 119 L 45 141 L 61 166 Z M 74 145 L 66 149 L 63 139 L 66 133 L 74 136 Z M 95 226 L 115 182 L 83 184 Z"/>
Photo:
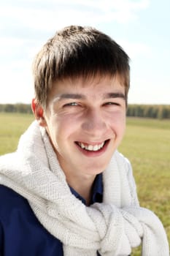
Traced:
<path id="1" fill-rule="evenodd" d="M 66 181 L 79 195 L 81 195 L 86 202 L 90 205 L 93 181 L 96 176 L 70 176 L 66 177 Z"/>

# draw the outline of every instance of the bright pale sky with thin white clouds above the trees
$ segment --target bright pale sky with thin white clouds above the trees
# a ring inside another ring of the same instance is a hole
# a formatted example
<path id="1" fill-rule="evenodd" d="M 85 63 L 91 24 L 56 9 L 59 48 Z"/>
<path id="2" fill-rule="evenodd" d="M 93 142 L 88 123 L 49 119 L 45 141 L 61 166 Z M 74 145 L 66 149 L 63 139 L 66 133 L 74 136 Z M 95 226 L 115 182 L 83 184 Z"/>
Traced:
<path id="1" fill-rule="evenodd" d="M 169 0 L 0 0 L 0 104 L 30 103 L 34 56 L 64 26 L 93 26 L 131 59 L 129 104 L 170 105 Z"/>

